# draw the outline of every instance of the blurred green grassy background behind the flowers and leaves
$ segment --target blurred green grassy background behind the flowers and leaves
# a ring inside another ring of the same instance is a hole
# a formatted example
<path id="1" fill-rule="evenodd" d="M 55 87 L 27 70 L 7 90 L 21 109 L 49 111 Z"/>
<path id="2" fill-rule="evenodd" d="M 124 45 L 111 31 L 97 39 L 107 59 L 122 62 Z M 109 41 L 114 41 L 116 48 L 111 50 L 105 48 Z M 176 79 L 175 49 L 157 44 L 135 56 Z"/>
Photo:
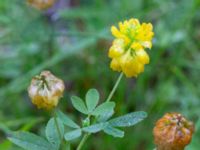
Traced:
<path id="1" fill-rule="evenodd" d="M 71 95 L 84 97 L 89 88 L 97 88 L 101 100 L 106 98 L 118 76 L 107 57 L 110 26 L 132 17 L 154 25 L 151 62 L 137 79 L 123 78 L 113 97 L 115 115 L 144 110 L 149 116 L 127 128 L 123 139 L 95 134 L 84 149 L 152 150 L 155 121 L 166 112 L 180 112 L 195 123 L 186 150 L 199 150 L 199 0 L 57 0 L 44 11 L 25 0 L 1 0 L 0 150 L 20 150 L 6 140 L 8 130 L 44 134 L 51 113 L 36 109 L 27 94 L 31 77 L 42 70 L 65 81 L 59 107 L 78 121 Z"/>

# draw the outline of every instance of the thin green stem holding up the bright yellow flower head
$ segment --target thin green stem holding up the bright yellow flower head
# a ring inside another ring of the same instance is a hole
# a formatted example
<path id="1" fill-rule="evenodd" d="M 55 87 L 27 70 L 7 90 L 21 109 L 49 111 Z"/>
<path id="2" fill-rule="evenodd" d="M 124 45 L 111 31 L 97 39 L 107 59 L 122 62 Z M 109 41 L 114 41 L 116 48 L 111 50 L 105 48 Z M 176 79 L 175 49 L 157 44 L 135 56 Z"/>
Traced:
<path id="1" fill-rule="evenodd" d="M 113 97 L 113 95 L 114 95 L 114 93 L 115 93 L 115 91 L 116 91 L 116 89 L 117 89 L 122 77 L 123 77 L 123 72 L 121 72 L 119 77 L 117 78 L 117 81 L 115 82 L 115 85 L 114 85 L 112 91 L 110 92 L 108 98 L 106 99 L 106 102 L 109 102 L 111 100 L 111 98 Z M 90 116 L 88 116 L 88 117 L 90 117 Z M 76 150 L 81 150 L 82 149 L 84 143 L 86 142 L 86 140 L 89 138 L 90 135 L 91 135 L 90 133 L 86 133 L 83 136 L 83 138 L 82 138 L 81 142 L 79 143 L 79 145 L 78 145 Z"/>

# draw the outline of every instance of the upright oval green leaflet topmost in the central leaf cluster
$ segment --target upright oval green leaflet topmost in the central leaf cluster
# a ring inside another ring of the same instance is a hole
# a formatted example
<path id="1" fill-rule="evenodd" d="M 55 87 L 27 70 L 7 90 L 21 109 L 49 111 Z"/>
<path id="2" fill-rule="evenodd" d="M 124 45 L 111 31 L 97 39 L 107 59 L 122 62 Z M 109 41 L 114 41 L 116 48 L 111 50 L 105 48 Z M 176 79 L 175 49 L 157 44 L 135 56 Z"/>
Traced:
<path id="1" fill-rule="evenodd" d="M 90 89 L 85 99 L 88 111 L 92 112 L 99 102 L 99 92 L 96 89 Z"/>

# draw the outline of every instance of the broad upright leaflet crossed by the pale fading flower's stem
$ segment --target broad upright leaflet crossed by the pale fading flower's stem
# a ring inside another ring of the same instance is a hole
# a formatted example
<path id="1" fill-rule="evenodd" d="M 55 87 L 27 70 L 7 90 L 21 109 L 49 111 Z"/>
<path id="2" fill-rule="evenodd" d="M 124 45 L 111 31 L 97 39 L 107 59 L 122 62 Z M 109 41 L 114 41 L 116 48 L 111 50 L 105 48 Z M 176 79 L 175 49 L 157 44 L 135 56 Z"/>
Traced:
<path id="1" fill-rule="evenodd" d="M 57 122 L 58 122 L 60 134 L 63 137 L 64 125 L 59 118 L 57 118 Z M 60 139 L 61 137 L 59 135 L 59 132 L 57 131 L 57 127 L 56 127 L 54 118 L 51 118 L 48 121 L 45 133 L 46 133 L 47 140 L 52 144 L 52 146 L 54 147 L 55 150 L 58 150 L 60 147 L 60 143 L 61 143 L 61 139 Z"/>

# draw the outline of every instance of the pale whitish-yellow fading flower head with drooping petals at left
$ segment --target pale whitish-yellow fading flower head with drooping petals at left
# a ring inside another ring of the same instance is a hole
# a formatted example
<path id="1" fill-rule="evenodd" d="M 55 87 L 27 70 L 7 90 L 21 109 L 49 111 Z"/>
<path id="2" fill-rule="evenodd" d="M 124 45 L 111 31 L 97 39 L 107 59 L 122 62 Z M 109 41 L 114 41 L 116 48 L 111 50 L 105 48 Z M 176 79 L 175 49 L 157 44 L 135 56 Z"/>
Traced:
<path id="1" fill-rule="evenodd" d="M 56 107 L 63 95 L 64 83 L 49 71 L 42 71 L 33 77 L 28 93 L 33 104 L 38 108 L 51 109 Z"/>

